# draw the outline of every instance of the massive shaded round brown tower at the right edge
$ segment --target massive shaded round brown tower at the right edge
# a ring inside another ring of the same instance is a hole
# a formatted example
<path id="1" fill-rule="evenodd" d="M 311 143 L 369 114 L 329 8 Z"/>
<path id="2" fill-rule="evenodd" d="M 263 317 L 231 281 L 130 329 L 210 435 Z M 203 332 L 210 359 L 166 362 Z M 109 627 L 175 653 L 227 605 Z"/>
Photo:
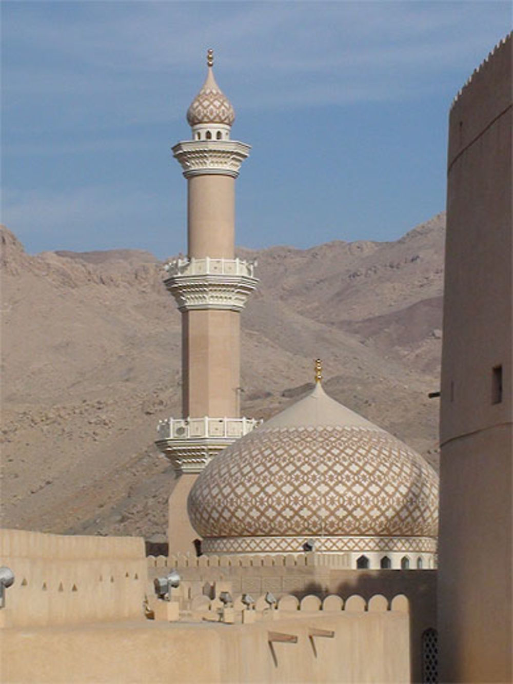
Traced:
<path id="1" fill-rule="evenodd" d="M 440 681 L 512 681 L 512 40 L 449 120 Z M 493 368 L 502 401 L 493 403 Z"/>

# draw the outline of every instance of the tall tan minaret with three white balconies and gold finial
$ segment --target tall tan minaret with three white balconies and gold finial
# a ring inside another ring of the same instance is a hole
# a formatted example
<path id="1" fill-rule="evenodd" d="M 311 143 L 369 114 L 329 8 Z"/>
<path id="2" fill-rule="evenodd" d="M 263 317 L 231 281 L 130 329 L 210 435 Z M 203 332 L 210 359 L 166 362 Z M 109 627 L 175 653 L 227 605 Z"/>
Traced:
<path id="1" fill-rule="evenodd" d="M 166 265 L 182 314 L 182 418 L 160 421 L 157 446 L 177 482 L 169 500 L 170 552 L 194 551 L 187 495 L 209 460 L 257 421 L 239 417 L 240 312 L 254 263 L 235 258 L 235 179 L 250 146 L 230 140 L 235 112 L 213 75 L 187 111 L 192 140 L 172 148 L 187 179 L 187 257 Z"/>

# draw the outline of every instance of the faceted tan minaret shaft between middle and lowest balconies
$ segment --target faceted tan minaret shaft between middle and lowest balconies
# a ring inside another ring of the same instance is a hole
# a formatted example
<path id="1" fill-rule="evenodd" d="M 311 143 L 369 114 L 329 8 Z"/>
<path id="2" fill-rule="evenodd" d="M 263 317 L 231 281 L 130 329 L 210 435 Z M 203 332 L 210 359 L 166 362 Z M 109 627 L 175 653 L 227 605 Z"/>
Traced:
<path id="1" fill-rule="evenodd" d="M 183 417 L 239 417 L 240 315 L 182 314 Z"/>

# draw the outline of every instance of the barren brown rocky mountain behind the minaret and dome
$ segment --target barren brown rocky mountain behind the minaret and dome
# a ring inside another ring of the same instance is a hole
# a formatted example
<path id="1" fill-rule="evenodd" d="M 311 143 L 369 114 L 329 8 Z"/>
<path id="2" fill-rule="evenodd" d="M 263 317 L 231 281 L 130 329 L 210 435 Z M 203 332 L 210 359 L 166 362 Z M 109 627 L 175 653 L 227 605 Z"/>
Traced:
<path id="1" fill-rule="evenodd" d="M 240 250 L 259 291 L 242 316 L 244 415 L 324 386 L 437 461 L 445 215 L 395 242 Z M 166 534 L 156 423 L 180 410 L 180 316 L 148 252 L 29 256 L 6 228 L 2 269 L 2 524 Z"/>

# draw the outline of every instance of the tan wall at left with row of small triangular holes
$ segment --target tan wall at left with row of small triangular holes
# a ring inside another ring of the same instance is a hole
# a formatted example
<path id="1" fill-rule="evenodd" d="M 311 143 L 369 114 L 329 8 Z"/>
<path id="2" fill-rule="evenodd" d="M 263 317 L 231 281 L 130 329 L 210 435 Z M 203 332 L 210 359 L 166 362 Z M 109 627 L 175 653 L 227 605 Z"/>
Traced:
<path id="1" fill-rule="evenodd" d="M 0 531 L 0 565 L 11 568 L 0 618 L 7 626 L 143 619 L 144 540 Z"/>

